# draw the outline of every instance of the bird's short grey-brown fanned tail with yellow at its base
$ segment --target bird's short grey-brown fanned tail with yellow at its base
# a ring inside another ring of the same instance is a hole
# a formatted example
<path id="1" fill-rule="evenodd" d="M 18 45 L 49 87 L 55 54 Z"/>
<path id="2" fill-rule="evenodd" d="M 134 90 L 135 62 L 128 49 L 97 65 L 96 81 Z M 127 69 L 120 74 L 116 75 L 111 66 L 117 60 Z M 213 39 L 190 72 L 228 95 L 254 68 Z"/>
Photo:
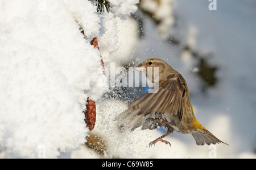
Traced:
<path id="1" fill-rule="evenodd" d="M 197 145 L 204 145 L 205 143 L 210 145 L 210 144 L 216 144 L 216 143 L 224 143 L 220 139 L 216 138 L 211 132 L 209 132 L 205 128 L 197 129 L 196 131 L 192 132 L 192 136 L 196 140 Z M 227 144 L 229 145 L 229 144 Z"/>

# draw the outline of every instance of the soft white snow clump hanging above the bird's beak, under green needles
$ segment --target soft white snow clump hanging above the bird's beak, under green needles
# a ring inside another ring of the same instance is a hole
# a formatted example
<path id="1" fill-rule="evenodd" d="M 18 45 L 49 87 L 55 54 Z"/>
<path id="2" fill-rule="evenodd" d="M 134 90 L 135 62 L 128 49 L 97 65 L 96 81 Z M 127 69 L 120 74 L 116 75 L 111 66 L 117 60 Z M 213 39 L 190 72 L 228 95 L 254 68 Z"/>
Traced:
<path id="1" fill-rule="evenodd" d="M 102 27 L 98 43 L 106 67 L 110 62 L 115 62 L 117 67 L 119 61 L 129 59 L 129 49 L 133 49 L 137 42 L 137 35 L 133 34 L 136 23 L 127 18 L 137 10 L 138 0 L 109 1 L 112 5 L 112 13 L 102 13 Z M 127 28 L 124 30 L 123 28 Z M 125 36 L 122 34 L 125 31 Z M 127 49 L 129 48 L 129 49 Z"/>

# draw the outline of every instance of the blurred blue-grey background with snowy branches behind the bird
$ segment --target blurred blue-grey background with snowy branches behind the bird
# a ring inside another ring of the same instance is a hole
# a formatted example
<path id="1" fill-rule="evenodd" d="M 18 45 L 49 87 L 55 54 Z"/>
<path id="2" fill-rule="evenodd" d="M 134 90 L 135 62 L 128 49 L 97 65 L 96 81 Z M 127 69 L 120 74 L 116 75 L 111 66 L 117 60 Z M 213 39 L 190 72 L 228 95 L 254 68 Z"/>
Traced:
<path id="1" fill-rule="evenodd" d="M 137 12 L 118 25 L 121 48 L 109 55 L 105 65 L 115 62 L 116 67 L 135 67 L 151 57 L 166 61 L 187 81 L 197 120 L 229 144 L 217 145 L 215 157 L 256 158 L 256 1 L 215 2 L 141 0 Z M 216 10 L 210 10 L 209 5 Z M 112 113 L 115 106 L 127 105 L 144 92 L 143 88 L 111 89 L 105 99 L 113 101 L 99 103 L 99 111 Z M 112 111 L 102 107 L 110 107 Z M 115 108 L 117 112 L 123 111 Z M 108 133 L 112 125 L 101 115 L 97 118 L 109 126 L 104 127 Z M 148 137 L 152 133 L 155 136 Z M 148 143 L 164 134 L 164 130 L 134 134 L 137 136 L 130 136 L 130 143 L 126 143 L 129 147 L 125 149 L 121 145 L 123 151 L 113 151 L 113 141 L 118 138 L 113 134 L 108 136 L 106 131 L 102 134 L 102 128 L 96 127 L 83 150 L 75 152 L 73 157 L 84 157 L 84 150 L 91 150 L 89 157 L 139 157 L 150 153 L 147 157 L 193 158 L 210 157 L 212 150 L 208 146 L 196 146 L 191 135 L 175 132 L 166 138 L 171 148 L 158 143 L 148 151 Z M 147 139 L 146 143 L 142 138 Z M 136 153 L 134 145 L 141 155 Z"/>

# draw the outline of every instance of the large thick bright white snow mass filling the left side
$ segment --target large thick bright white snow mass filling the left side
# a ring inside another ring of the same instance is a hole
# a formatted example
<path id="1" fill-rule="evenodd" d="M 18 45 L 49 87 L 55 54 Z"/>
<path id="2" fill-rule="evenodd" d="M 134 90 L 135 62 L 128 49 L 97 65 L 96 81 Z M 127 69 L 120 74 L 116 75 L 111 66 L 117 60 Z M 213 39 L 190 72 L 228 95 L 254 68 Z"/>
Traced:
<path id="1" fill-rule="evenodd" d="M 134 12 L 136 2 L 115 3 L 130 6 L 117 15 Z M 97 100 L 105 90 L 97 86 L 101 59 L 90 40 L 107 20 L 84 0 L 0 1 L 0 9 L 1 150 L 33 158 L 72 152 L 88 131 L 86 98 Z"/>

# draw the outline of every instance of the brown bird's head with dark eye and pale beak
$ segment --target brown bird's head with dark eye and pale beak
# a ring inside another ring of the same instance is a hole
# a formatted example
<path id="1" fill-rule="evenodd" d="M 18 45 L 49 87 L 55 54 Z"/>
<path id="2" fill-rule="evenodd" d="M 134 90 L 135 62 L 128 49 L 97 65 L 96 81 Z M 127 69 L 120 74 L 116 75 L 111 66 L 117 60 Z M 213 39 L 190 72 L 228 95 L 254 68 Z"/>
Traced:
<path id="1" fill-rule="evenodd" d="M 157 69 L 158 68 L 158 73 Z M 134 68 L 136 71 L 144 72 L 146 73 L 147 78 L 150 78 L 148 76 L 152 77 L 152 83 L 155 83 L 155 76 L 158 76 L 159 82 L 164 81 L 167 79 L 167 77 L 172 74 L 176 73 L 176 71 L 166 63 L 166 61 L 160 60 L 160 59 L 146 59 L 141 64 L 137 65 L 137 67 Z M 155 72 L 156 70 L 156 72 Z M 158 74 L 158 75 L 155 75 Z"/>

